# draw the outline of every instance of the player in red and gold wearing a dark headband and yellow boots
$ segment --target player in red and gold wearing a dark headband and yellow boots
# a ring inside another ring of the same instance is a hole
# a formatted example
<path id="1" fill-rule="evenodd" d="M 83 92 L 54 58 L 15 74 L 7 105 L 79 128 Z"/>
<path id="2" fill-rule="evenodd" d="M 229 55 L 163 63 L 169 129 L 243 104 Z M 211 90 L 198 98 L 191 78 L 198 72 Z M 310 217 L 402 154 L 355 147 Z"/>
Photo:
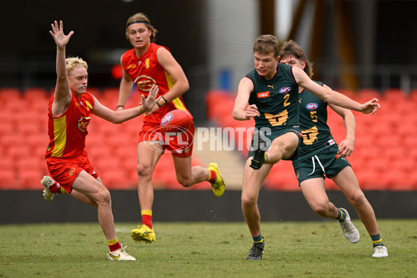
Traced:
<path id="1" fill-rule="evenodd" d="M 172 153 L 177 181 L 182 186 L 189 187 L 195 183 L 209 181 L 216 196 L 221 196 L 224 193 L 224 179 L 220 175 L 217 163 L 210 163 L 208 168 L 191 167 L 194 124 L 191 124 L 188 129 L 191 136 L 187 137 L 186 133 L 183 133 L 177 138 L 164 140 L 167 142 L 165 144 L 155 140 L 154 131 L 158 130 L 165 113 L 175 109 L 187 110 L 181 95 L 189 88 L 186 74 L 170 51 L 166 47 L 154 43 L 156 33 L 156 28 L 142 13 L 137 13 L 127 20 L 126 38 L 133 49 L 126 51 L 120 58 L 123 78 L 120 83 L 117 104 L 117 110 L 124 109 L 133 84 L 143 95 L 147 95 L 152 85 L 158 85 L 159 94 L 156 105 L 146 113 L 142 130 L 139 133 L 137 170 L 142 225 L 131 231 L 134 240 L 143 240 L 146 243 L 156 241 L 152 227 L 152 205 L 154 202 L 152 173 L 164 152 Z M 149 147 L 151 141 L 152 147 Z M 186 147 L 183 145 L 184 142 L 188 144 Z"/>

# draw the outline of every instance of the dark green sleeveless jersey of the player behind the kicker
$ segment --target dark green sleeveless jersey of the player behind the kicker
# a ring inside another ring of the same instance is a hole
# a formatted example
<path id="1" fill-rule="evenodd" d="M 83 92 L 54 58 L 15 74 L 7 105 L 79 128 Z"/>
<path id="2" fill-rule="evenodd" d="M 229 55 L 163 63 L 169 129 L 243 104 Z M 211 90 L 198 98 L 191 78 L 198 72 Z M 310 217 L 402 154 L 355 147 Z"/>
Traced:
<path id="1" fill-rule="evenodd" d="M 315 82 L 322 85 L 321 82 Z M 306 90 L 300 92 L 298 101 L 302 145 L 297 161 L 302 161 L 311 158 L 336 142 L 334 142 L 327 125 L 327 102 Z"/>

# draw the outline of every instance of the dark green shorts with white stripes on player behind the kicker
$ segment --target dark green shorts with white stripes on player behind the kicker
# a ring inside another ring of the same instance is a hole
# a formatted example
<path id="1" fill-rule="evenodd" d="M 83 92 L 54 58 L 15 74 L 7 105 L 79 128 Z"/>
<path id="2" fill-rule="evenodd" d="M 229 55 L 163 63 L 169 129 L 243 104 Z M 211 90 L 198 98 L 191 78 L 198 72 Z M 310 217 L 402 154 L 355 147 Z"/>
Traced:
<path id="1" fill-rule="evenodd" d="M 307 179 L 314 179 L 322 177 L 323 179 L 332 178 L 341 172 L 346 166 L 350 166 L 349 161 L 345 156 L 336 158 L 338 152 L 338 145 L 334 144 L 322 152 L 311 156 L 311 158 L 303 159 L 302 161 L 293 161 L 295 177 L 298 183 L 306 181 Z"/>

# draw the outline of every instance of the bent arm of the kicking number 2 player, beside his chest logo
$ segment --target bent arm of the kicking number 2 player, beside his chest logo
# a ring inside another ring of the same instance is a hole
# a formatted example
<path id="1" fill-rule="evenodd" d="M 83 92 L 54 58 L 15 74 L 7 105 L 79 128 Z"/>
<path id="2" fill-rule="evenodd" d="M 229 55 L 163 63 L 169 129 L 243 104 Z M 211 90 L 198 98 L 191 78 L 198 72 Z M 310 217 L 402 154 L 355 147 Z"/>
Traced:
<path id="1" fill-rule="evenodd" d="M 254 84 L 250 79 L 244 77 L 238 87 L 238 96 L 235 100 L 233 108 L 233 118 L 239 121 L 250 120 L 251 117 L 261 115 L 255 104 L 247 106 L 250 94 L 254 90 Z"/>

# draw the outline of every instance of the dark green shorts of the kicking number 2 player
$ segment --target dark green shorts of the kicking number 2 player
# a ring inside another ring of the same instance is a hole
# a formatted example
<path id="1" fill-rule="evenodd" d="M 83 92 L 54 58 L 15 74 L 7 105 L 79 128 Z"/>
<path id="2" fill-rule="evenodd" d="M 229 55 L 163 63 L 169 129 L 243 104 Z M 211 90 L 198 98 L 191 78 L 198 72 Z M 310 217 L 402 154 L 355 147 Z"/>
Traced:
<path id="1" fill-rule="evenodd" d="M 302 143 L 302 135 L 301 135 L 301 129 L 299 126 L 288 126 L 281 129 L 270 129 L 268 127 L 263 127 L 261 129 L 258 129 L 263 134 L 263 139 L 266 141 L 265 150 L 268 150 L 271 147 L 272 141 L 275 140 L 275 138 L 284 135 L 288 132 L 293 132 L 298 136 L 298 147 L 295 150 L 293 156 L 288 159 L 283 159 L 283 161 L 293 161 L 298 157 L 298 150 L 300 149 L 301 143 Z M 255 129 L 256 131 L 256 129 Z M 257 144 L 256 144 L 257 145 Z M 252 136 L 252 142 L 250 144 L 250 150 L 249 154 L 247 154 L 247 158 L 250 158 L 251 156 L 254 156 L 254 136 Z"/>

